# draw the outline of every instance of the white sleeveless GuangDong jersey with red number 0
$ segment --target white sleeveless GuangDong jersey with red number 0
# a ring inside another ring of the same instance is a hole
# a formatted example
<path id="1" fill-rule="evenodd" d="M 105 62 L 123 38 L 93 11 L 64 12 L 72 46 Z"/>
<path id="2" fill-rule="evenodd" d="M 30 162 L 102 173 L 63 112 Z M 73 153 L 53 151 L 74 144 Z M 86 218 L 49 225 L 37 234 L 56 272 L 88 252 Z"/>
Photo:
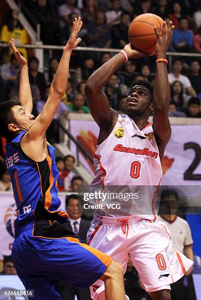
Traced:
<path id="1" fill-rule="evenodd" d="M 129 116 L 118 115 L 113 131 L 97 146 L 94 166 L 95 178 L 91 183 L 91 190 L 118 193 L 123 191 L 124 194 L 131 192 L 133 199 L 130 202 L 122 200 L 120 214 L 156 219 L 156 196 L 162 178 L 162 168 L 150 123 L 140 130 Z M 109 198 L 108 196 L 108 200 Z M 118 215 L 107 209 L 105 213 L 107 216 Z"/>

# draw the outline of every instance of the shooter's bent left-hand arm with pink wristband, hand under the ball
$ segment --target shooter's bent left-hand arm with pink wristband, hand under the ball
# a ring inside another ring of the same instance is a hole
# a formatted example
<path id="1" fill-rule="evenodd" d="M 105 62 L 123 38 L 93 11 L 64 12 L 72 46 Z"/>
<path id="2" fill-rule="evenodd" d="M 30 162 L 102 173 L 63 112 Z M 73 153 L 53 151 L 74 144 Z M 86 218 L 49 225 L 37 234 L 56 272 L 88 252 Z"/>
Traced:
<path id="1" fill-rule="evenodd" d="M 143 57 L 144 54 L 132 50 L 130 45 L 124 47 L 128 58 Z M 102 91 L 112 75 L 125 63 L 125 56 L 119 52 L 96 70 L 86 81 L 85 94 L 91 115 L 100 129 L 107 128 L 116 118 L 117 113 L 110 108 L 108 98 Z"/>

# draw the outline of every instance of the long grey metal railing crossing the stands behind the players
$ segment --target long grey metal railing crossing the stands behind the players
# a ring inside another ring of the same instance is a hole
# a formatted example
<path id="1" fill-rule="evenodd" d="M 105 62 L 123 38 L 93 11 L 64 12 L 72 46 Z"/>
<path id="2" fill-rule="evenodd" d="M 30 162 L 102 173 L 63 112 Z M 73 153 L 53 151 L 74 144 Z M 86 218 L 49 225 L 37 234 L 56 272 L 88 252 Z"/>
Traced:
<path id="1" fill-rule="evenodd" d="M 49 49 L 49 50 L 62 50 L 64 46 L 55 46 L 55 45 L 22 45 L 17 44 L 17 47 L 22 48 L 31 48 L 31 49 Z M 7 48 L 9 47 L 6 43 L 0 43 L 0 47 Z M 112 48 L 94 48 L 94 47 L 76 47 L 75 51 L 94 51 L 94 52 L 114 52 L 117 53 L 121 49 L 112 49 Z M 188 56 L 188 57 L 201 57 L 201 53 L 181 53 L 181 52 L 167 52 L 169 56 L 169 70 L 171 71 L 172 67 L 172 56 Z"/>

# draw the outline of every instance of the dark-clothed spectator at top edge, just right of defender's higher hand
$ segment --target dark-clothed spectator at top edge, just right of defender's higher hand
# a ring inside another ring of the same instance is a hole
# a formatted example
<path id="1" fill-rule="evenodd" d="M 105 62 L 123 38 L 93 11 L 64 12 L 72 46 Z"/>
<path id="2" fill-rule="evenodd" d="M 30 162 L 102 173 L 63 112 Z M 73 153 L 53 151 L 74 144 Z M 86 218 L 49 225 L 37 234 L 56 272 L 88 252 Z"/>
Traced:
<path id="1" fill-rule="evenodd" d="M 98 11 L 98 7 L 94 0 L 85 0 L 84 1 L 84 8 L 82 9 L 82 16 L 84 24 L 87 23 L 94 23 L 95 22 L 95 15 Z"/>

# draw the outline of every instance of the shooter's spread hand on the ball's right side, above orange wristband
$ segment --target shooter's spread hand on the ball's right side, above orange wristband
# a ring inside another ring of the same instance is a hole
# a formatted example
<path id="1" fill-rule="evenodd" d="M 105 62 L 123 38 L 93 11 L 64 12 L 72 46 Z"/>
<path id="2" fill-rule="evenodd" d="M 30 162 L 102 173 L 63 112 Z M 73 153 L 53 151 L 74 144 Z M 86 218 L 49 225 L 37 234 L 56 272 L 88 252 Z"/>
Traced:
<path id="1" fill-rule="evenodd" d="M 166 58 L 166 52 L 168 51 L 168 47 L 172 38 L 174 26 L 172 25 L 172 21 L 168 24 L 168 31 L 166 32 L 166 22 L 163 23 L 162 28 L 162 36 L 160 37 L 158 33 L 158 29 L 154 26 L 154 31 L 157 37 L 155 55 L 156 58 Z"/>

